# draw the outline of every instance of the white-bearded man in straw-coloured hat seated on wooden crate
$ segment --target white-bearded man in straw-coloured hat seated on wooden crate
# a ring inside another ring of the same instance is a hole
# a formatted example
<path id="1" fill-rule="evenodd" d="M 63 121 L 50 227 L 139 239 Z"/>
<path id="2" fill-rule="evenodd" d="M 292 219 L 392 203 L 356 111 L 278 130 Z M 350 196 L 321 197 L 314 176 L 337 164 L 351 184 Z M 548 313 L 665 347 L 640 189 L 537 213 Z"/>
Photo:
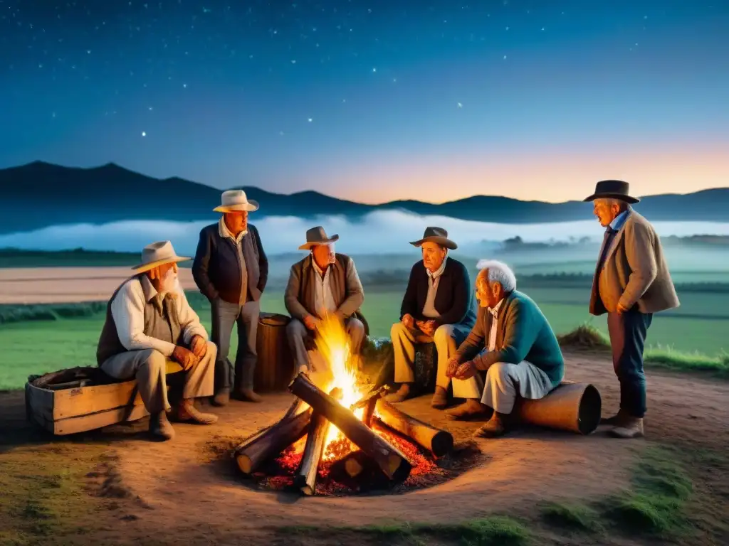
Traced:
<path id="1" fill-rule="evenodd" d="M 213 394 L 217 349 L 192 310 L 177 280 L 177 256 L 169 241 L 153 242 L 142 250 L 136 274 L 109 298 L 106 322 L 96 349 L 96 361 L 114 379 L 136 378 L 144 407 L 149 411 L 149 432 L 170 440 L 174 430 L 166 412 L 167 360 L 185 373 L 178 417 L 202 424 L 217 422 L 203 414 L 193 400 Z"/>

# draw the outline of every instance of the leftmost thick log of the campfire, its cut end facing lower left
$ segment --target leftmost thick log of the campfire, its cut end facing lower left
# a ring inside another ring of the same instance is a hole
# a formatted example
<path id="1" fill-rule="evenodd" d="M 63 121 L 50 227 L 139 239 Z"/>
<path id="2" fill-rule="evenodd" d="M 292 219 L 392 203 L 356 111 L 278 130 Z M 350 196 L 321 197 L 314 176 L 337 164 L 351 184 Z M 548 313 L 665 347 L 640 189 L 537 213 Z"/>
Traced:
<path id="1" fill-rule="evenodd" d="M 235 460 L 243 474 L 252 474 L 260 465 L 299 440 L 311 422 L 311 408 L 299 410 L 301 400 L 295 400 L 289 411 L 276 424 L 246 438 L 235 448 Z"/>

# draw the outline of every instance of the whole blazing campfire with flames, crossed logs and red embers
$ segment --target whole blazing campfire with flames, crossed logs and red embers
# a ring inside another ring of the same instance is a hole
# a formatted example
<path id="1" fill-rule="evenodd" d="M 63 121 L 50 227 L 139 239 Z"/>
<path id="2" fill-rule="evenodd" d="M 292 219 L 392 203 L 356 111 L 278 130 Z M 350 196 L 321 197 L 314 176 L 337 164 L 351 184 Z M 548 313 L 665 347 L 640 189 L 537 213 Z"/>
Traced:
<path id="1" fill-rule="evenodd" d="M 437 472 L 451 434 L 382 399 L 359 373 L 339 320 L 323 320 L 315 342 L 327 369 L 295 377 L 286 414 L 235 449 L 240 470 L 305 495 L 389 488 Z"/>

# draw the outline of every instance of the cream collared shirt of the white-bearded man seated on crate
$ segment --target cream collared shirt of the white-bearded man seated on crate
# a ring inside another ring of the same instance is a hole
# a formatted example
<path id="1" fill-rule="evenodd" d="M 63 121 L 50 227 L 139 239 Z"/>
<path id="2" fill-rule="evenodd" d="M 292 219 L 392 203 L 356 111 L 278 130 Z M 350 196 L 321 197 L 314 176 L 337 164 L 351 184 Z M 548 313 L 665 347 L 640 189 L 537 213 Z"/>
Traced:
<path id="1" fill-rule="evenodd" d="M 207 341 L 208 333 L 202 324 L 200 317 L 192 310 L 187 302 L 182 287 L 177 282 L 175 290 L 171 293 L 175 300 L 177 318 L 182 327 L 183 339 L 190 344 L 192 336 L 202 336 Z M 161 339 L 147 336 L 144 333 L 144 307 L 149 301 L 162 296 L 157 292 L 147 275 L 141 279 L 133 278 L 122 285 L 117 296 L 112 301 L 112 317 L 117 327 L 119 341 L 128 350 L 157 349 L 165 356 L 171 356 L 175 345 Z"/>

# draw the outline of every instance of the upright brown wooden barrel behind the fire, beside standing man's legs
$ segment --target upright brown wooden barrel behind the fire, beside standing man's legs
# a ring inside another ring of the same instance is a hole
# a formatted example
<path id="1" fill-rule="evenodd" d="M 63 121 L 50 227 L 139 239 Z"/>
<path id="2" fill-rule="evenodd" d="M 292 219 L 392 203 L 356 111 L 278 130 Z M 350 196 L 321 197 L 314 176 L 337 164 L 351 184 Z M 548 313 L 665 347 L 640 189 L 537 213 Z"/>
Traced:
<path id="1" fill-rule="evenodd" d="M 256 336 L 258 362 L 253 376 L 256 392 L 285 391 L 294 379 L 294 359 L 286 340 L 289 320 L 285 314 L 260 314 Z"/>

